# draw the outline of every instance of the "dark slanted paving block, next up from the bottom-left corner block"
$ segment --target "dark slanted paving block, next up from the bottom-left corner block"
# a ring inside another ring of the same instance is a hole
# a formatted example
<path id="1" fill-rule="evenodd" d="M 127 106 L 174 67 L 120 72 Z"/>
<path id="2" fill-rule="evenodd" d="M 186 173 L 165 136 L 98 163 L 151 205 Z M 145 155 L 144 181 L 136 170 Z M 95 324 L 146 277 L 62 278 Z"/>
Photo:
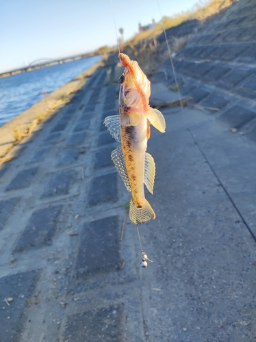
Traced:
<path id="1" fill-rule="evenodd" d="M 61 211 L 62 205 L 34 211 L 21 238 L 18 240 L 15 252 L 50 246 Z"/>

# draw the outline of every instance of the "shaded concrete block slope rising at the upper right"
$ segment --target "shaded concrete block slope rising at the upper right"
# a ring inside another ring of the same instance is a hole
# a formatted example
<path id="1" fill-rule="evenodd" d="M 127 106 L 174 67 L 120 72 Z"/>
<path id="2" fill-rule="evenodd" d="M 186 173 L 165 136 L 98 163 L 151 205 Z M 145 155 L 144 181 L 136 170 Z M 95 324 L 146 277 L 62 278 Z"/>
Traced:
<path id="1" fill-rule="evenodd" d="M 236 1 L 201 25 L 174 59 L 177 75 L 185 81 L 180 84 L 181 94 L 192 96 L 196 105 L 215 108 L 212 114 L 221 124 L 239 129 L 254 141 L 255 134 L 251 132 L 255 130 L 256 119 L 255 33 L 255 2 Z M 170 62 L 163 66 L 170 68 Z M 187 92 L 191 83 L 193 89 Z M 209 95 L 204 96 L 205 92 Z"/>

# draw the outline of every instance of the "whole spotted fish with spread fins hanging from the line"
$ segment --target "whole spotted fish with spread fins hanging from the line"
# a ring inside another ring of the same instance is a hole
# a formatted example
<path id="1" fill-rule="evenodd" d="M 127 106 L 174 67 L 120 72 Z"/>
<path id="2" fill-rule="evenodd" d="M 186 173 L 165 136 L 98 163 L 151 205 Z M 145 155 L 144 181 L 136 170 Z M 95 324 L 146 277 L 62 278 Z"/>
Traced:
<path id="1" fill-rule="evenodd" d="M 129 217 L 134 224 L 155 219 L 144 185 L 153 194 L 155 182 L 155 161 L 146 152 L 150 138 L 151 124 L 164 133 L 166 122 L 163 114 L 149 105 L 150 81 L 138 62 L 130 60 L 125 53 L 118 55 L 125 67 L 119 77 L 119 115 L 107 116 L 104 124 L 121 146 L 112 151 L 111 157 L 127 190 L 131 192 Z"/>

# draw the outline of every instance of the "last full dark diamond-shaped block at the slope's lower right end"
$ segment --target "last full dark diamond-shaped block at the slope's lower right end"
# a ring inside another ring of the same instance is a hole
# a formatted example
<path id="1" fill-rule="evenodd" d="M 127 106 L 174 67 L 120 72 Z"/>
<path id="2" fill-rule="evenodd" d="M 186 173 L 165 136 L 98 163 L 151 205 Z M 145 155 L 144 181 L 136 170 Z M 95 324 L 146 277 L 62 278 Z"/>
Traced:
<path id="1" fill-rule="evenodd" d="M 225 122 L 230 128 L 240 129 L 244 124 L 254 118 L 256 118 L 256 112 L 241 107 L 240 105 L 235 105 L 227 109 L 218 120 Z"/>

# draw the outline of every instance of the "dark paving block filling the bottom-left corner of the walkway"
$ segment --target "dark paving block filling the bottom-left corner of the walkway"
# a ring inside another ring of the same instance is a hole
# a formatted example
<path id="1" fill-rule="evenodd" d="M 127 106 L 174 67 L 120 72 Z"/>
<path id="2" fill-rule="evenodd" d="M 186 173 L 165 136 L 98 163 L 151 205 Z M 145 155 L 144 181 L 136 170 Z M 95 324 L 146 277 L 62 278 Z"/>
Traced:
<path id="1" fill-rule="evenodd" d="M 29 303 L 25 298 L 32 299 L 39 274 L 38 270 L 34 270 L 0 278 L 1 342 L 20 341 L 23 327 L 27 321 L 25 310 L 29 308 Z M 10 303 L 10 306 L 5 304 L 5 298 L 14 299 L 13 302 Z M 3 309 L 3 307 L 5 309 Z M 10 317 L 10 319 L 8 319 L 8 317 Z"/>

